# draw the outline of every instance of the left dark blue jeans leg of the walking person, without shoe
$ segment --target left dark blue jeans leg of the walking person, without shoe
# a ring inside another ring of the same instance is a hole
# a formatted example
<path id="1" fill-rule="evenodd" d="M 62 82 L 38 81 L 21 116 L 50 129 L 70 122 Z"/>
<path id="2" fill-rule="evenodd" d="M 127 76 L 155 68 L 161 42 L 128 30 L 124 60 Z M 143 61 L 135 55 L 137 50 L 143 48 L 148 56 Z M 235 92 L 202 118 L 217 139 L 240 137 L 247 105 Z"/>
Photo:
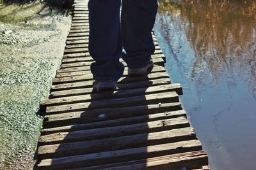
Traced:
<path id="1" fill-rule="evenodd" d="M 120 0 L 90 0 L 89 52 L 95 62 L 91 65 L 94 80 L 117 81 L 124 73 L 119 62 L 122 55 L 120 35 Z"/>

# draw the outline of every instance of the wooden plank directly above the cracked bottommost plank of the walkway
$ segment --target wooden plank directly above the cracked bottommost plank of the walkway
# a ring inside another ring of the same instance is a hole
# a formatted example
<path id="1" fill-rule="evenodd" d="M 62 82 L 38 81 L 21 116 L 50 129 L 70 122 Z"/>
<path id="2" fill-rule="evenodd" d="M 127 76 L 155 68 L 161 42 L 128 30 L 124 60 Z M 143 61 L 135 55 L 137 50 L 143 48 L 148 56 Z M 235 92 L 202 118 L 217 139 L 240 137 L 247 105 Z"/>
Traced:
<path id="1" fill-rule="evenodd" d="M 91 153 L 87 155 L 77 155 L 72 157 L 62 157 L 56 159 L 44 159 L 39 168 L 75 168 L 111 164 L 124 162 L 134 159 L 147 159 L 148 157 L 157 157 L 175 153 L 191 152 L 202 150 L 201 143 L 198 140 L 180 141 L 177 143 L 168 143 L 140 148 L 130 148 L 127 150 L 117 150 L 103 153 Z M 145 165 L 144 165 L 145 166 Z"/>

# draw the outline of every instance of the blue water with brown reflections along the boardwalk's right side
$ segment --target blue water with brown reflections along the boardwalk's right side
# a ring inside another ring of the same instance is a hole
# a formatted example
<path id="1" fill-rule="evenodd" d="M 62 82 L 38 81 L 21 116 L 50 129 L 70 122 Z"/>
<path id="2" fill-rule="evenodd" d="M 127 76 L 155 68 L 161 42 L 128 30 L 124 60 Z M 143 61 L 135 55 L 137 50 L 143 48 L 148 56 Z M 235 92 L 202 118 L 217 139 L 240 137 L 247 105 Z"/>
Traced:
<path id="1" fill-rule="evenodd" d="M 172 82 L 214 170 L 255 170 L 256 1 L 159 1 Z"/>

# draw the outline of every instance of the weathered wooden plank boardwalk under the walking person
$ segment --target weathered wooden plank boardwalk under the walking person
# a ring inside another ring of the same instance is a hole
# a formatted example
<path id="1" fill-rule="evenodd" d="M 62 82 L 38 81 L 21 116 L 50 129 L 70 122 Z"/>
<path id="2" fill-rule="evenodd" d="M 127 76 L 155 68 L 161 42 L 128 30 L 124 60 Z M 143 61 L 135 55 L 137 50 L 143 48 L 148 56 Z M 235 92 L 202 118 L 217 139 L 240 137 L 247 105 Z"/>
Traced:
<path id="1" fill-rule="evenodd" d="M 147 77 L 127 76 L 115 92 L 92 92 L 87 1 L 74 2 L 74 17 L 38 141 L 37 169 L 210 169 L 179 103 L 182 88 L 170 83 L 157 45 Z"/>

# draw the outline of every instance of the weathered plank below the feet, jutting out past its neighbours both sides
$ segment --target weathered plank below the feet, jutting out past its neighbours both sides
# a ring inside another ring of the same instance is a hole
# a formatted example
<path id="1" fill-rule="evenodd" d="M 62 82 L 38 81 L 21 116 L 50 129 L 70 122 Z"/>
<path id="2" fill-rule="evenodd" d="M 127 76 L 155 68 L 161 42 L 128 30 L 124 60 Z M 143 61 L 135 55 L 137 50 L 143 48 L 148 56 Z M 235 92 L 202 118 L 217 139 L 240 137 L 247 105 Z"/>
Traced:
<path id="1" fill-rule="evenodd" d="M 71 97 L 60 97 L 56 99 L 47 99 L 40 102 L 40 106 L 56 106 L 61 104 L 72 104 L 72 103 L 83 103 L 88 101 L 96 101 L 99 99 L 116 99 L 120 97 L 131 97 L 138 96 L 143 94 L 156 94 L 163 92 L 176 92 L 181 90 L 180 84 L 168 84 L 168 85 L 159 85 L 155 87 L 144 87 L 138 89 L 127 89 L 122 91 L 115 92 L 101 92 L 95 94 L 86 94 L 80 96 L 71 96 Z"/>

